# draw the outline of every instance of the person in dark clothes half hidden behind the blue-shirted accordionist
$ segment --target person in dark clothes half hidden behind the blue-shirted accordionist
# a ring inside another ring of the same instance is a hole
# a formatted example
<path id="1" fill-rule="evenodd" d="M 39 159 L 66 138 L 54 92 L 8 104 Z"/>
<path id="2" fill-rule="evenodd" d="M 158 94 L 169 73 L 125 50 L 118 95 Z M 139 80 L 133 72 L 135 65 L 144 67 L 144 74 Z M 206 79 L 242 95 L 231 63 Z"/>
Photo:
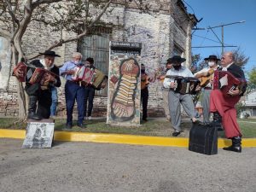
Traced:
<path id="1" fill-rule="evenodd" d="M 91 57 L 88 57 L 85 60 L 85 66 L 86 67 L 90 67 L 90 69 L 95 69 L 94 67 L 94 60 Z M 88 84 L 85 86 L 84 88 L 85 90 L 85 100 L 84 100 L 84 117 L 85 119 L 91 119 L 91 112 L 92 112 L 92 108 L 93 108 L 93 99 L 95 96 L 95 88 L 91 85 Z M 88 101 L 88 111 L 87 111 L 87 101 Z"/>

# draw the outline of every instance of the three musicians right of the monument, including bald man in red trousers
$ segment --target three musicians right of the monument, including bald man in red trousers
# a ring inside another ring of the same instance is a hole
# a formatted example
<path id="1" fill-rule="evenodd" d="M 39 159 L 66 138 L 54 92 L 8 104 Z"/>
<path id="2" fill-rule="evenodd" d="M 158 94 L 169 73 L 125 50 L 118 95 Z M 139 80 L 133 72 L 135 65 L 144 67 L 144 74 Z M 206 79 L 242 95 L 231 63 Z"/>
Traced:
<path id="1" fill-rule="evenodd" d="M 201 124 L 195 118 L 195 106 L 190 94 L 202 90 L 203 124 L 214 126 L 218 131 L 224 130 L 225 137 L 232 140 L 232 145 L 224 150 L 241 152 L 241 130 L 237 124 L 235 106 L 246 91 L 247 83 L 241 67 L 234 63 L 232 52 L 224 53 L 221 59 L 209 55 L 205 58 L 208 67 L 195 74 L 181 65 L 184 58 L 175 55 L 170 60 L 172 68 L 166 72 L 163 85 L 169 89 L 168 102 L 174 129 L 172 136 L 177 137 L 181 133 L 180 104 L 192 123 Z M 218 61 L 221 61 L 220 66 Z M 196 82 L 196 79 L 200 79 L 200 82 Z M 210 113 L 213 114 L 212 122 Z"/>

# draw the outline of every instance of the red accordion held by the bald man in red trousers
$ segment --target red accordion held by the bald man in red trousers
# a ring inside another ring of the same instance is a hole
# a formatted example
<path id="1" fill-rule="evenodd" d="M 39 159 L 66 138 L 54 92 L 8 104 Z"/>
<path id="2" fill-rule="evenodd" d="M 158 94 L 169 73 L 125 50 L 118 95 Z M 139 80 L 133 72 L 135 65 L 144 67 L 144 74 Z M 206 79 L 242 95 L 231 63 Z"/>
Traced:
<path id="1" fill-rule="evenodd" d="M 221 90 L 224 96 L 229 96 L 227 94 L 230 90 L 242 90 L 246 86 L 246 79 L 236 78 L 232 73 L 227 71 L 215 71 L 213 77 L 213 90 Z"/>

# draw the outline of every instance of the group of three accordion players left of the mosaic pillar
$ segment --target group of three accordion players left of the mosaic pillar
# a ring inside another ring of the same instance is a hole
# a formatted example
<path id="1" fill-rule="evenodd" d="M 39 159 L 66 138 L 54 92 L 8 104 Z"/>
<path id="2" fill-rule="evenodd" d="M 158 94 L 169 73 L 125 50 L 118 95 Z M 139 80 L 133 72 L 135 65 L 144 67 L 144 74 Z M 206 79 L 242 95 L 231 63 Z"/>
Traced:
<path id="1" fill-rule="evenodd" d="M 73 60 L 67 61 L 60 68 L 54 65 L 55 51 L 46 50 L 44 59 L 34 60 L 29 64 L 20 62 L 14 69 L 15 76 L 20 82 L 26 82 L 26 93 L 29 97 L 28 119 L 49 119 L 52 105 L 51 90 L 61 86 L 60 76 L 65 78 L 65 98 L 67 107 L 66 129 L 73 126 L 73 107 L 78 105 L 77 125 L 84 128 L 84 118 L 90 119 L 93 108 L 95 90 L 106 86 L 107 76 L 94 67 L 93 58 L 82 62 L 79 52 L 73 53 Z M 87 102 L 88 109 L 87 109 Z"/>

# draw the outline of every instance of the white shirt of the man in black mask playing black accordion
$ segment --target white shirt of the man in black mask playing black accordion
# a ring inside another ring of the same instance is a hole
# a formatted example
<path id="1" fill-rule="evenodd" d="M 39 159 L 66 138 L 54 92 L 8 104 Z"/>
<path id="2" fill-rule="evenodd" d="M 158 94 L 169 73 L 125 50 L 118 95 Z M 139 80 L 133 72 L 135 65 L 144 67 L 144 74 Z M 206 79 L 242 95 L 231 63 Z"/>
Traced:
<path id="1" fill-rule="evenodd" d="M 188 78 L 188 77 L 194 77 L 194 75 L 191 73 L 191 71 L 186 68 L 186 67 L 181 67 L 178 71 L 175 70 L 173 67 L 168 70 L 168 72 L 166 73 L 166 75 L 171 75 L 171 76 L 183 76 L 184 78 Z M 170 88 L 170 84 L 171 82 L 174 82 L 174 79 L 170 79 L 170 78 L 165 78 L 164 80 L 164 87 L 165 88 Z"/>

